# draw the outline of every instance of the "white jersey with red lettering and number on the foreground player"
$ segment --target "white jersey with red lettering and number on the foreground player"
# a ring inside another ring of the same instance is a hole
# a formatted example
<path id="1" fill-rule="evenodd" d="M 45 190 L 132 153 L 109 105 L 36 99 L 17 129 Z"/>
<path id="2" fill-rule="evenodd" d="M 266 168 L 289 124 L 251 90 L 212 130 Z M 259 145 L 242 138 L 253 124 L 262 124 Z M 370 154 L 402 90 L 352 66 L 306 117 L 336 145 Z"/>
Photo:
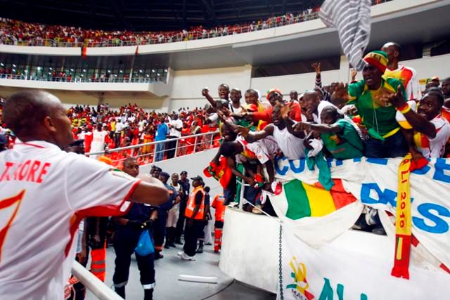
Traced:
<path id="1" fill-rule="evenodd" d="M 0 298 L 63 299 L 79 221 L 123 214 L 138 183 L 44 141 L 1 152 Z"/>

